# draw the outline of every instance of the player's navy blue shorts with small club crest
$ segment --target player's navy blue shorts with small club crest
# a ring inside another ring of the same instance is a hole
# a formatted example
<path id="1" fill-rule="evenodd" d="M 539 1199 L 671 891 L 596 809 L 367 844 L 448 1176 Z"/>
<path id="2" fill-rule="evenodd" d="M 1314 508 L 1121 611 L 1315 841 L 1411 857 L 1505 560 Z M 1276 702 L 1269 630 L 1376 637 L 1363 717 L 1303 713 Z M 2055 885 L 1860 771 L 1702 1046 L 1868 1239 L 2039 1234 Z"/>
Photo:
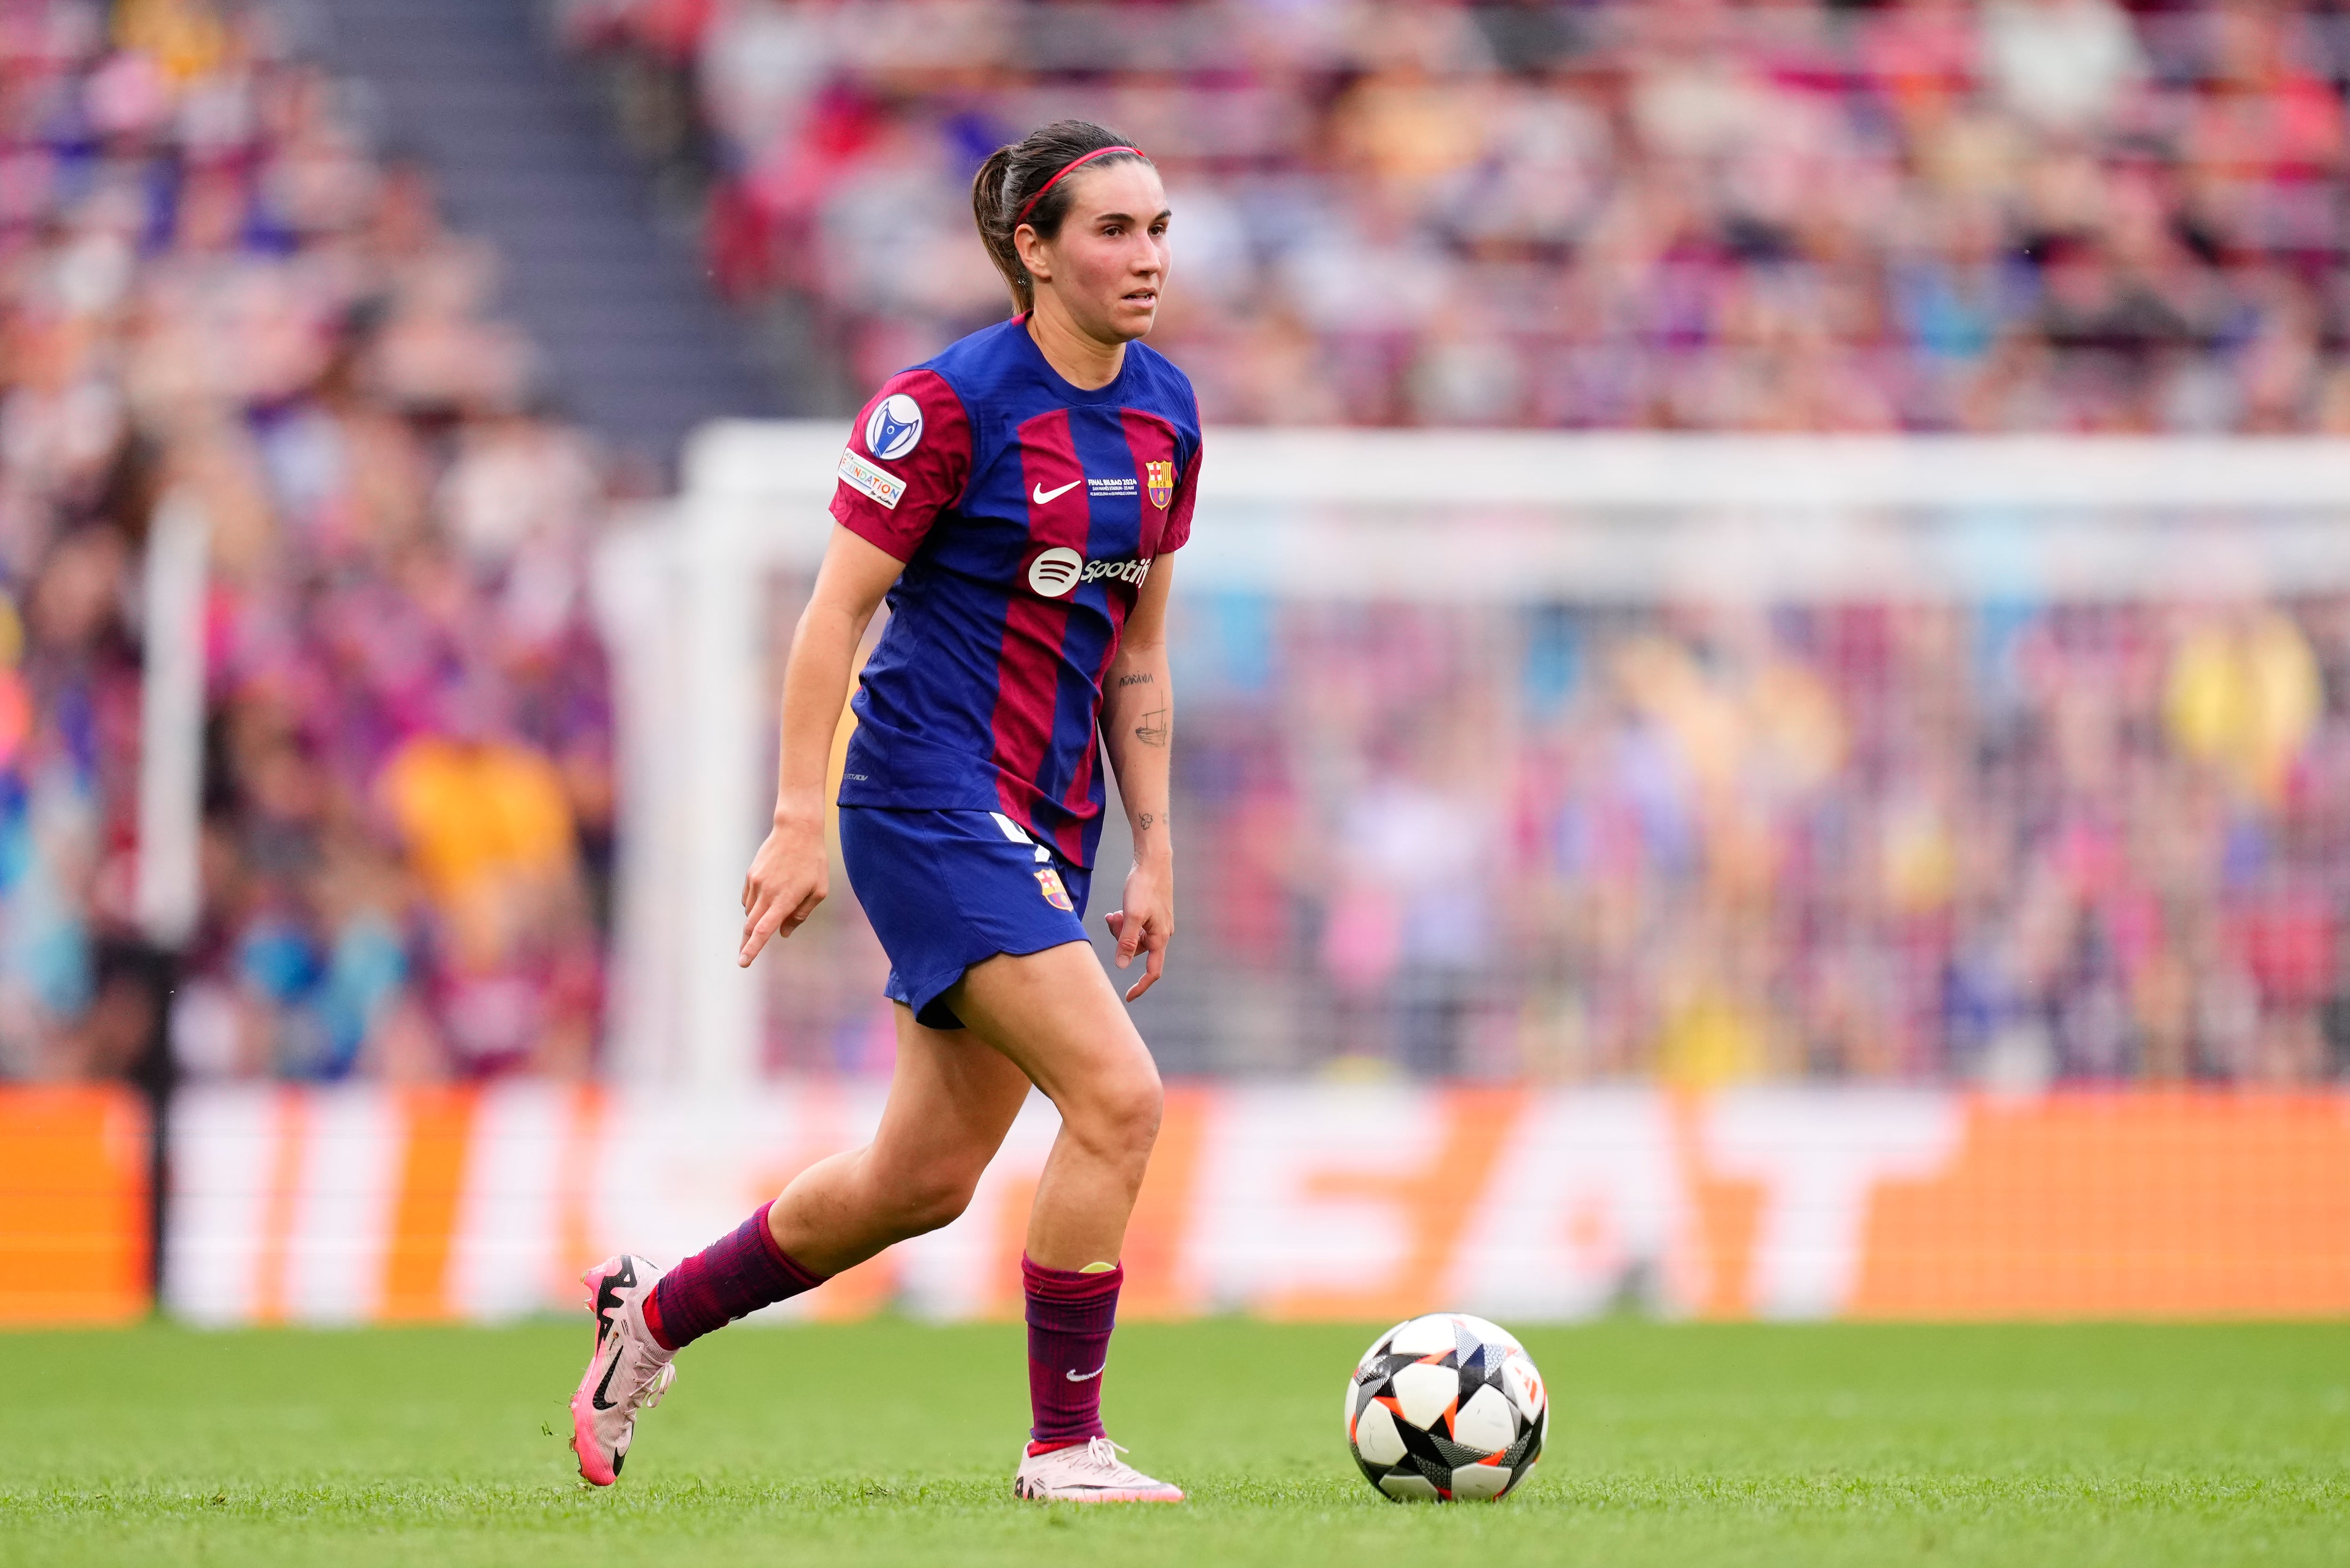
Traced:
<path id="1" fill-rule="evenodd" d="M 961 1030 L 940 994 L 999 952 L 1086 940 L 1093 872 L 1001 811 L 841 806 L 848 886 L 888 954 L 884 997 L 931 1030 Z"/>

